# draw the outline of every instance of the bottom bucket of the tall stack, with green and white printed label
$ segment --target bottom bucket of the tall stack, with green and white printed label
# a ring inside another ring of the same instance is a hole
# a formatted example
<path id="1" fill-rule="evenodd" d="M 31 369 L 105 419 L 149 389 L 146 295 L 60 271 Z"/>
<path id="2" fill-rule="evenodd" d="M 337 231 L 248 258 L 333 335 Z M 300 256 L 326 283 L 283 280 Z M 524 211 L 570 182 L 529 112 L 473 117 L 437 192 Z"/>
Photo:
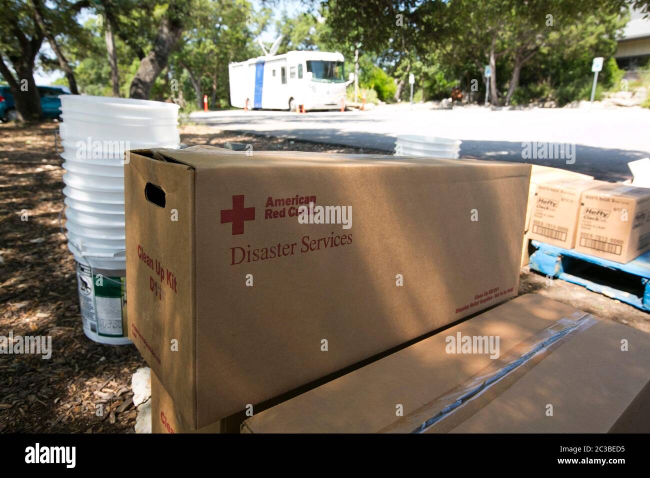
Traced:
<path id="1" fill-rule="evenodd" d="M 75 255 L 79 309 L 86 337 L 98 343 L 127 345 L 126 271 L 102 269 Z"/>

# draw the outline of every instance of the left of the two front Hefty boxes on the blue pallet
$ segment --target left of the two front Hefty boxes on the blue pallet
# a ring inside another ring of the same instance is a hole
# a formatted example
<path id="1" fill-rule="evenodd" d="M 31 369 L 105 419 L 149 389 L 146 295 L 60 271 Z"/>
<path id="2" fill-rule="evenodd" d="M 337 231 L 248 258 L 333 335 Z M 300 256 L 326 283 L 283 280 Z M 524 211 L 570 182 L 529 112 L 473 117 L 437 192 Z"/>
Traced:
<path id="1" fill-rule="evenodd" d="M 604 184 L 607 183 L 591 179 L 538 183 L 530 217 L 530 239 L 573 249 L 582 193 Z"/>

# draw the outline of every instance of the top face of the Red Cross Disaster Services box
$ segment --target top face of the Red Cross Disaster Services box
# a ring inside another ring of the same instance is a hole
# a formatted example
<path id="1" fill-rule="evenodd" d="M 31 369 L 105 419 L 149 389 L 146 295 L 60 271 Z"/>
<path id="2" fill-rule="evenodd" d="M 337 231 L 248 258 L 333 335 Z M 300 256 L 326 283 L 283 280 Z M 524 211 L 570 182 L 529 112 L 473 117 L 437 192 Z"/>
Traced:
<path id="1" fill-rule="evenodd" d="M 193 166 L 199 171 L 213 168 L 292 167 L 305 165 L 323 167 L 435 167 L 440 170 L 437 182 L 441 183 L 530 176 L 530 165 L 499 163 L 494 161 L 458 161 L 454 159 L 424 157 L 285 151 L 255 151 L 250 154 L 248 152 L 231 151 L 214 146 L 192 146 L 182 150 L 155 148 L 155 150 L 151 151 L 159 159 Z"/>

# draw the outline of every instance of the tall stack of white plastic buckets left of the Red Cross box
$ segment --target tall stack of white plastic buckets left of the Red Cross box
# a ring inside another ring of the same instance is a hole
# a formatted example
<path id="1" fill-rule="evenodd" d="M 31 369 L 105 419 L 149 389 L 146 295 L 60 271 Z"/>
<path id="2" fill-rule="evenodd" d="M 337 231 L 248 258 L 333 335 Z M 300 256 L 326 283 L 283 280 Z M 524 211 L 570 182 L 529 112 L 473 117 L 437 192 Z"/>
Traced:
<path id="1" fill-rule="evenodd" d="M 66 237 L 77 261 L 83 330 L 100 343 L 131 343 L 125 321 L 124 152 L 178 148 L 178 106 L 103 96 L 60 99 Z"/>

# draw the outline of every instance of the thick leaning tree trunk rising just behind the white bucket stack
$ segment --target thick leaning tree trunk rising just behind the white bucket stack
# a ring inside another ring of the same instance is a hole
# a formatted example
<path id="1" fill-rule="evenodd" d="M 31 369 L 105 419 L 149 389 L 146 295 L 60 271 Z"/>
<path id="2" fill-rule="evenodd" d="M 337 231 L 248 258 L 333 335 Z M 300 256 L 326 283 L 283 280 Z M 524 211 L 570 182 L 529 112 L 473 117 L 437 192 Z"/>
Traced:
<path id="1" fill-rule="evenodd" d="M 173 4 L 172 4 L 173 5 Z M 140 68 L 131 82 L 129 96 L 140 100 L 148 100 L 151 86 L 162 69 L 167 66 L 169 55 L 181 38 L 183 24 L 179 17 L 168 16 L 162 20 L 158 29 L 153 49 L 140 61 Z"/>

